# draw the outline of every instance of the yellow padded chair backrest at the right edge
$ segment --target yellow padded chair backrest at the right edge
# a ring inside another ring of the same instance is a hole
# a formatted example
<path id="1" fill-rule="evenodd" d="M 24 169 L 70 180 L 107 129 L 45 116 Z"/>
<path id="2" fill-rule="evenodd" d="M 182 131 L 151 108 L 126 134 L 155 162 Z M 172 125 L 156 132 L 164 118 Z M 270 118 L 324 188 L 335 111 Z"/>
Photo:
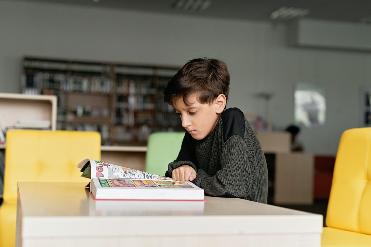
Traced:
<path id="1" fill-rule="evenodd" d="M 326 225 L 371 234 L 371 128 L 350 129 L 341 136 Z"/>

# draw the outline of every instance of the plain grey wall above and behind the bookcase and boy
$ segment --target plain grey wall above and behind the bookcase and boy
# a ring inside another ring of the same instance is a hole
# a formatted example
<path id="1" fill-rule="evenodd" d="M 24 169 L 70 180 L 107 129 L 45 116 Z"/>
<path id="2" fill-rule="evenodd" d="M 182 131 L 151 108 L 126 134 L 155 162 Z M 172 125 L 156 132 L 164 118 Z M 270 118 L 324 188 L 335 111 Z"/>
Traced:
<path id="1" fill-rule="evenodd" d="M 0 0 L 0 92 L 20 92 L 25 55 L 178 66 L 219 58 L 231 74 L 228 106 L 263 113 L 254 94 L 272 92 L 276 129 L 293 121 L 295 83 L 323 85 L 326 125 L 299 137 L 320 154 L 336 154 L 341 133 L 359 127 L 358 87 L 371 84 L 370 53 L 290 48 L 283 25 Z"/>

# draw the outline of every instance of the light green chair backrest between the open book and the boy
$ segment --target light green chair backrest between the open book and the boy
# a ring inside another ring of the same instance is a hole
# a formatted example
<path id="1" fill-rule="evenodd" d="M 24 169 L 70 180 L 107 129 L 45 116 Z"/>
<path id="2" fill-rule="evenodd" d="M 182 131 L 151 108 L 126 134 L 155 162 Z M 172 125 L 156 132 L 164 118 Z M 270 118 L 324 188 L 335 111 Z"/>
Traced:
<path id="1" fill-rule="evenodd" d="M 148 138 L 145 171 L 165 175 L 167 166 L 180 151 L 185 132 L 155 132 Z"/>

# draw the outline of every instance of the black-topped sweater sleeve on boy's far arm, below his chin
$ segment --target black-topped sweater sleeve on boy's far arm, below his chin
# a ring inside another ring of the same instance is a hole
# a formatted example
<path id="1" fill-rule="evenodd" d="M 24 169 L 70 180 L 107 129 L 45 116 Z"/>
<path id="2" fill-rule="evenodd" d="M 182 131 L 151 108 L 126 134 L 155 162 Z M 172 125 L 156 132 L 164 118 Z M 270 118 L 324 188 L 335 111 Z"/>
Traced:
<path id="1" fill-rule="evenodd" d="M 173 170 L 184 165 L 191 166 L 197 172 L 197 159 L 194 155 L 194 146 L 192 145 L 192 136 L 186 132 L 182 141 L 182 145 L 178 157 L 174 162 L 169 163 L 165 173 L 166 177 L 173 177 Z"/>

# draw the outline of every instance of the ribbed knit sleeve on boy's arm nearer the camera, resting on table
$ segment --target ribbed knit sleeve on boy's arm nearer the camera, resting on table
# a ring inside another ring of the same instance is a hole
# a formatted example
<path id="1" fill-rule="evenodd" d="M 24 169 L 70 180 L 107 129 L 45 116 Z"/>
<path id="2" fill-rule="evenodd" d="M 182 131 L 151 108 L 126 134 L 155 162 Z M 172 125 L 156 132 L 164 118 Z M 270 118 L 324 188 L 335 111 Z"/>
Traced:
<path id="1" fill-rule="evenodd" d="M 254 156 L 249 151 L 239 135 L 231 136 L 220 154 L 221 170 L 210 176 L 203 169 L 198 169 L 192 183 L 211 196 L 249 196 L 258 176 Z"/>

